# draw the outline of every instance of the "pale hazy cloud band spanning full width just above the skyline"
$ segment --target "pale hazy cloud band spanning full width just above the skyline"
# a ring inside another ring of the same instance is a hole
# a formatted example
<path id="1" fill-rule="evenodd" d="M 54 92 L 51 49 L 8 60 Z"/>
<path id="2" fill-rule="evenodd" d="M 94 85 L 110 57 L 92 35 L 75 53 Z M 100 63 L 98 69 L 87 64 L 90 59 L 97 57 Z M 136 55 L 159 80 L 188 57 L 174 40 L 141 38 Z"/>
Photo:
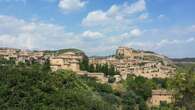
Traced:
<path id="1" fill-rule="evenodd" d="M 110 55 L 114 54 L 114 50 L 118 46 L 125 45 L 173 57 L 193 56 L 194 53 L 187 53 L 189 48 L 195 51 L 194 25 L 151 30 L 133 28 L 128 32 L 109 34 L 96 30 L 79 33 L 67 32 L 61 25 L 38 20 L 26 21 L 2 15 L 0 15 L 0 24 L 0 47 L 22 49 L 78 48 L 84 50 L 88 55 Z M 95 39 L 95 41 L 89 42 L 88 39 Z"/>

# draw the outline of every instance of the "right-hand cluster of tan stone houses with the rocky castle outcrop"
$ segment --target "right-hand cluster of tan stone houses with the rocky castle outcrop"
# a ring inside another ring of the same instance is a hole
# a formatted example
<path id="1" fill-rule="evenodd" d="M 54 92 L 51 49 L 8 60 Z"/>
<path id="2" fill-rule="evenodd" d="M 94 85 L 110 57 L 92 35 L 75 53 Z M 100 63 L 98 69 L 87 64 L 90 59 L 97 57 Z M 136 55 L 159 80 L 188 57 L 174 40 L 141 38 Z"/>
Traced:
<path id="1" fill-rule="evenodd" d="M 122 79 L 128 74 L 146 78 L 167 78 L 174 75 L 175 68 L 165 56 L 127 47 L 119 47 L 116 55 L 105 58 L 90 58 L 91 64 L 110 64 L 119 71 Z"/>

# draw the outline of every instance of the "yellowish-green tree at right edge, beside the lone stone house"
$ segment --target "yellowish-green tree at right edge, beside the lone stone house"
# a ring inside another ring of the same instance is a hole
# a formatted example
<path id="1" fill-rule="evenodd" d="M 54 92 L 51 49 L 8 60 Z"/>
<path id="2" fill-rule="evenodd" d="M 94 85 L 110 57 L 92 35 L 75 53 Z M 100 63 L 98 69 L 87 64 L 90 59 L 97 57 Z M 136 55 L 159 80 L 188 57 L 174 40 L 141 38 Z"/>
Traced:
<path id="1" fill-rule="evenodd" d="M 195 73 L 191 68 L 188 73 L 178 73 L 169 80 L 169 89 L 174 90 L 175 107 L 193 110 L 195 108 Z"/>

